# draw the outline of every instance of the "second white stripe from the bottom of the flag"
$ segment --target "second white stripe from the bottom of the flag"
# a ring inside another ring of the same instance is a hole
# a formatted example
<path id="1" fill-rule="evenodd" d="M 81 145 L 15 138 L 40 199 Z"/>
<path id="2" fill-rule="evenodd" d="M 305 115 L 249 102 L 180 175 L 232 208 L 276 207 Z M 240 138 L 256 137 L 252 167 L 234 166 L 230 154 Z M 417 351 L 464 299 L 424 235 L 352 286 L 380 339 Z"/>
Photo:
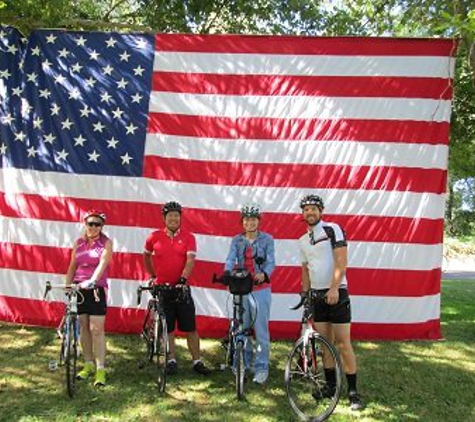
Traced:
<path id="1" fill-rule="evenodd" d="M 59 221 L 19 219 L 0 216 L 5 230 L 0 242 L 70 248 L 82 230 L 82 224 Z M 44 234 L 48 233 L 48 236 Z M 142 253 L 150 229 L 108 225 L 106 233 L 114 241 L 116 252 Z M 195 234 L 197 259 L 224 263 L 231 237 Z M 349 242 L 349 266 L 353 268 L 432 270 L 440 267 L 442 245 L 406 243 Z M 276 239 L 276 264 L 300 266 L 298 240 Z"/>

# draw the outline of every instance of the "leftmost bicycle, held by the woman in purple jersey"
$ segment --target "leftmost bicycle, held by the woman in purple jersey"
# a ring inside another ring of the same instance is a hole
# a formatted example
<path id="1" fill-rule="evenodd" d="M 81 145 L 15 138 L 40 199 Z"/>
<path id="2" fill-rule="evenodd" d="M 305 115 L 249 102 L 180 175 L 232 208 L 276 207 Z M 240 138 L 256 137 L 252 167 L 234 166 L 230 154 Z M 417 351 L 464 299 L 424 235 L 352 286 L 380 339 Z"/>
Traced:
<path id="1" fill-rule="evenodd" d="M 84 296 L 80 292 L 77 284 L 70 286 L 53 285 L 46 282 L 43 299 L 46 299 L 51 290 L 61 290 L 66 294 L 67 302 L 64 311 L 64 324 L 61 331 L 61 349 L 59 353 L 59 364 L 66 369 L 66 388 L 69 397 L 73 397 L 76 392 L 77 358 L 79 342 L 79 321 L 78 304 L 84 301 Z"/>

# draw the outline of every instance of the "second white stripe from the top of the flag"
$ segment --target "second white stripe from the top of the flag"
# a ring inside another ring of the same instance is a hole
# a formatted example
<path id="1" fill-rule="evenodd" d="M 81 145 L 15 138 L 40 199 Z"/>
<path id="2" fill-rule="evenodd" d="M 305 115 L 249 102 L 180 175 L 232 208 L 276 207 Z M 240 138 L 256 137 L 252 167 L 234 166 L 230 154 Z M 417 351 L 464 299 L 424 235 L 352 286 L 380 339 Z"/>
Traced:
<path id="1" fill-rule="evenodd" d="M 417 98 L 207 95 L 152 91 L 150 112 L 280 119 L 448 122 L 450 100 Z"/>

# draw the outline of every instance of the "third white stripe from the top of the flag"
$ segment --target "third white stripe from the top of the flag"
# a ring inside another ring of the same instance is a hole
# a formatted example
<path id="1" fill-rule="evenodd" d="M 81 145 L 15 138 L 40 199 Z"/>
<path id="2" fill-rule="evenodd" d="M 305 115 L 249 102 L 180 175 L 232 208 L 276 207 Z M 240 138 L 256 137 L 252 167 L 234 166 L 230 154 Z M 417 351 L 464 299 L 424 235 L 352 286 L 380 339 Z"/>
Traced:
<path id="1" fill-rule="evenodd" d="M 198 161 L 348 166 L 447 167 L 447 145 L 270 141 L 148 134 L 145 154 Z"/>

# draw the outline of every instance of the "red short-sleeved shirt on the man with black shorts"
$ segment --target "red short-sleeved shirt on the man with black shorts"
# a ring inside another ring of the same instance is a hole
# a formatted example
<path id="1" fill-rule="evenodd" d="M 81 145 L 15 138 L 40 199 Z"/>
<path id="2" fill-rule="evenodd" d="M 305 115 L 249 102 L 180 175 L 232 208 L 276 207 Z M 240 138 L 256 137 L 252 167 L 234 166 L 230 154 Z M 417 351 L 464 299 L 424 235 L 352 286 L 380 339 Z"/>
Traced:
<path id="1" fill-rule="evenodd" d="M 157 230 L 145 241 L 145 251 L 152 254 L 156 283 L 176 284 L 185 268 L 187 255 L 196 254 L 195 236 L 180 229 L 170 237 L 166 229 Z"/>

